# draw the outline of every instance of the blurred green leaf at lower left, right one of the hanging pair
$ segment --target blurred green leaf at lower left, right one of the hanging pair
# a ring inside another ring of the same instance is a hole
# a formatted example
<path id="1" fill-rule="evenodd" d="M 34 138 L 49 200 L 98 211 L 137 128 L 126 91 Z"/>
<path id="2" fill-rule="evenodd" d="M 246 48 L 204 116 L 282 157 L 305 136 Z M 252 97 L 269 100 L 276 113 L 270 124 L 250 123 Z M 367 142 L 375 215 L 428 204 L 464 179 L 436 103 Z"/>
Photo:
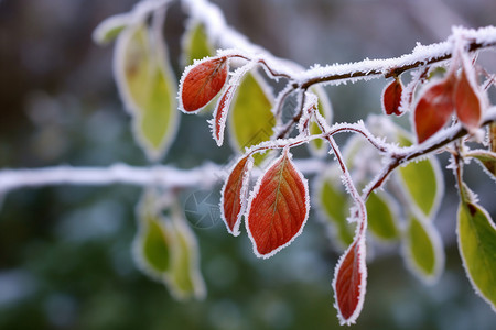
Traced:
<path id="1" fill-rule="evenodd" d="M 176 299 L 203 299 L 206 295 L 205 283 L 200 273 L 200 254 L 196 237 L 183 217 L 175 215 L 172 219 L 176 238 L 176 250 L 170 290 Z"/>

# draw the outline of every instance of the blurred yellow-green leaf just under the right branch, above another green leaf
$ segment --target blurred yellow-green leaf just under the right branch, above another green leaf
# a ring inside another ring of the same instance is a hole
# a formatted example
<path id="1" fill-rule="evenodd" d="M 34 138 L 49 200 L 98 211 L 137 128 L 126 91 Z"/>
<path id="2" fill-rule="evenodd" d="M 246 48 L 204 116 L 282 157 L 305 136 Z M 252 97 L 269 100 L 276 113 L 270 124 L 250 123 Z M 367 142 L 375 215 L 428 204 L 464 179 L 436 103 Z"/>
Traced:
<path id="1" fill-rule="evenodd" d="M 398 177 L 411 205 L 427 218 L 432 218 L 438 211 L 444 194 L 444 180 L 439 162 L 435 157 L 410 162 L 398 168 Z"/>

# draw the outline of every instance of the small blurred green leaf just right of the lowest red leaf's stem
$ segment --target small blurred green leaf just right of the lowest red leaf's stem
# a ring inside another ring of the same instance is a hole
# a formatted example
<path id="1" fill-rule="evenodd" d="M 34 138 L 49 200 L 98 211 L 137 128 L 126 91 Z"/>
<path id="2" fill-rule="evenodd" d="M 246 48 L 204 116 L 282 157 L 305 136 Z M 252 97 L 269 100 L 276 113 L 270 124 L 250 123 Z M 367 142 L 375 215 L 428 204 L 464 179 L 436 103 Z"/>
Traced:
<path id="1" fill-rule="evenodd" d="M 389 241 L 399 235 L 397 211 L 392 198 L 384 191 L 373 193 L 366 201 L 368 229 L 378 239 Z"/>

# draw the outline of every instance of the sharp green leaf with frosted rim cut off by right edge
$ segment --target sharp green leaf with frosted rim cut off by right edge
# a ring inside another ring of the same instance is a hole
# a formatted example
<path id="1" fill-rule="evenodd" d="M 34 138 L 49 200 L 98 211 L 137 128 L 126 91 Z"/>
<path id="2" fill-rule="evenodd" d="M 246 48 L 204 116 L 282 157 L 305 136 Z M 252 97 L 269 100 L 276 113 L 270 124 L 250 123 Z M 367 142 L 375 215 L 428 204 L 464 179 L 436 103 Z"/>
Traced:
<path id="1" fill-rule="evenodd" d="M 496 311 L 496 227 L 481 206 L 461 202 L 459 250 L 475 292 Z"/>

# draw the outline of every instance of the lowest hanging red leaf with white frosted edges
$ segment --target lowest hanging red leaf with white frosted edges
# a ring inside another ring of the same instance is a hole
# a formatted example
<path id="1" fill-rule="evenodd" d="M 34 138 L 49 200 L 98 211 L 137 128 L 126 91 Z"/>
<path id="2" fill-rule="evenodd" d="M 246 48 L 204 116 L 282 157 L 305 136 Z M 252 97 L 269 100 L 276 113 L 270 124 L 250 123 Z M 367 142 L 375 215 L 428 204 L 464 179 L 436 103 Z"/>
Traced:
<path id="1" fill-rule="evenodd" d="M 343 254 L 334 273 L 335 307 L 342 326 L 349 326 L 358 318 L 364 305 L 366 284 L 365 242 L 363 237 L 358 237 Z"/>

